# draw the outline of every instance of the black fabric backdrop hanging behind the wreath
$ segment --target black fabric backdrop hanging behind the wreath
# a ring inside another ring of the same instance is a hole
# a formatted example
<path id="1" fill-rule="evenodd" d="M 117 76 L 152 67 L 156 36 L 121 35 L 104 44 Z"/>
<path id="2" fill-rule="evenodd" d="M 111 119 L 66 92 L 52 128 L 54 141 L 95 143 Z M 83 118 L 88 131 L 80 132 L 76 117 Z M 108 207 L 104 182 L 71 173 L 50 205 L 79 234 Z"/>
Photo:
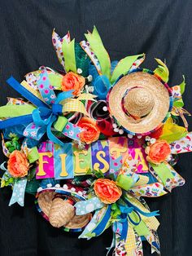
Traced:
<path id="1" fill-rule="evenodd" d="M 1 0 L 0 1 L 0 82 L 1 104 L 7 96 L 18 96 L 6 80 L 13 75 L 21 81 L 25 73 L 45 65 L 61 68 L 51 43 L 52 29 L 60 35 L 70 30 L 80 42 L 86 29 L 95 24 L 111 60 L 146 53 L 142 65 L 154 69 L 155 57 L 166 59 L 171 86 L 186 77 L 185 108 L 192 112 L 192 2 L 190 0 Z M 189 119 L 189 118 L 188 118 Z M 190 129 L 192 122 L 190 121 Z M 3 161 L 1 152 L 1 160 Z M 186 179 L 182 188 L 162 198 L 148 200 L 151 210 L 160 210 L 159 238 L 163 256 L 191 255 L 191 163 L 192 154 L 183 154 L 176 166 Z M 11 189 L 0 195 L 0 255 L 105 255 L 111 245 L 108 230 L 91 241 L 62 232 L 37 214 L 33 196 L 25 207 L 7 206 Z M 150 255 L 150 247 L 145 255 Z"/>

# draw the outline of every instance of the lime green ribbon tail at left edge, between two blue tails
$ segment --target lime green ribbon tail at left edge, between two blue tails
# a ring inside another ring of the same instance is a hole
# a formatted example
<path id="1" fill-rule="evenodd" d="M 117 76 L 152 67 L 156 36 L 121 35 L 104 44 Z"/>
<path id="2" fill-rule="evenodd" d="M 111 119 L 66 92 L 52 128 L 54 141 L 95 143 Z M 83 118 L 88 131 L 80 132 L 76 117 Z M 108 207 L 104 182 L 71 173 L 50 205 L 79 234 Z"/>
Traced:
<path id="1" fill-rule="evenodd" d="M 0 118 L 2 117 L 20 117 L 31 114 L 35 107 L 30 104 L 24 105 L 6 105 L 0 108 Z"/>

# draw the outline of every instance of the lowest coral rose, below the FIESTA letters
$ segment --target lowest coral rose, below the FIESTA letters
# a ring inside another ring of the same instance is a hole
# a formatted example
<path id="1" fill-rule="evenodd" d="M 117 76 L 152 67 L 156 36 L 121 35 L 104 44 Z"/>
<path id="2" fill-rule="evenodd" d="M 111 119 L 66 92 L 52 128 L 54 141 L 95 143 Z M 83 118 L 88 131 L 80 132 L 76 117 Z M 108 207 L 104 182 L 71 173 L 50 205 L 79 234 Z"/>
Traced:
<path id="1" fill-rule="evenodd" d="M 94 192 L 104 204 L 115 203 L 122 195 L 121 188 L 110 179 L 98 179 L 94 183 Z"/>

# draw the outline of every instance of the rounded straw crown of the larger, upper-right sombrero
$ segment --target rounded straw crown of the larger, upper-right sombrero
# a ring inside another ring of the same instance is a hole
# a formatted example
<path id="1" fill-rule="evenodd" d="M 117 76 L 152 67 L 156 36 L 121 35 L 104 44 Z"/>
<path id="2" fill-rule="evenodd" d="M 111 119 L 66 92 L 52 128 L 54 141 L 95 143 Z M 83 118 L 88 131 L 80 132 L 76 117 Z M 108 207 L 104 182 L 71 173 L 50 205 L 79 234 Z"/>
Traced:
<path id="1" fill-rule="evenodd" d="M 124 97 L 124 108 L 134 117 L 144 117 L 151 113 L 155 104 L 150 90 L 143 87 L 133 87 Z"/>

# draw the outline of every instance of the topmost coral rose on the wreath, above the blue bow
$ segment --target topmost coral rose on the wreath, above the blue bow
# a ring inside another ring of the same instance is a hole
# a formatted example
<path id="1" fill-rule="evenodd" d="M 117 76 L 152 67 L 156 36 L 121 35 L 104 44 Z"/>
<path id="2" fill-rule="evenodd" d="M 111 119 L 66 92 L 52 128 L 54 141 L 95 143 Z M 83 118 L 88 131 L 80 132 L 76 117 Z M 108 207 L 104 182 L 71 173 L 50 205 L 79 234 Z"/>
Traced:
<path id="1" fill-rule="evenodd" d="M 85 85 L 85 78 L 77 75 L 76 73 L 69 72 L 67 73 L 62 80 L 61 89 L 63 91 L 74 90 L 73 95 L 79 95 L 81 88 Z"/>

